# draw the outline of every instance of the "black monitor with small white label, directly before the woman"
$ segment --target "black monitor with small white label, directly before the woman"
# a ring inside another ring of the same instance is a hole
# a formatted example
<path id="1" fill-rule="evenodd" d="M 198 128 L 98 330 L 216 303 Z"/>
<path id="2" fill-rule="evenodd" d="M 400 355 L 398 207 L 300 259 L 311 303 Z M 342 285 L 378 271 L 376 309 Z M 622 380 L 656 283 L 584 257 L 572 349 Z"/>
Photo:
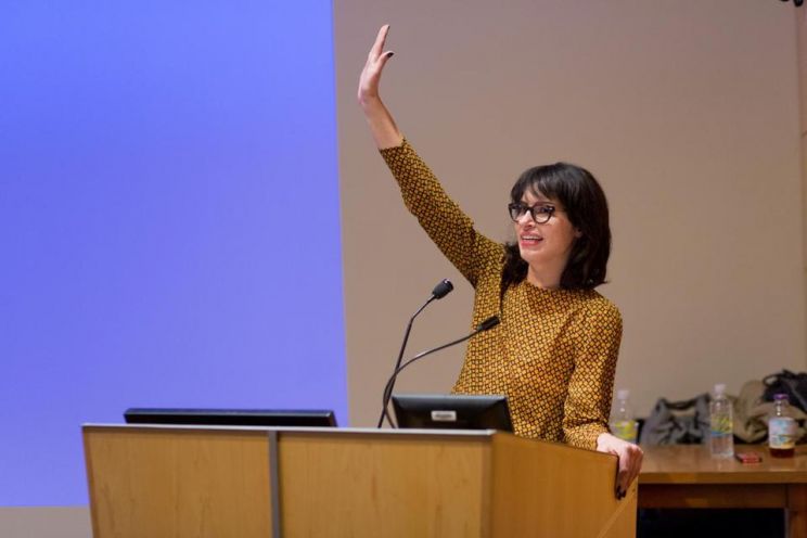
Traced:
<path id="1" fill-rule="evenodd" d="M 513 431 L 505 396 L 401 394 L 393 409 L 398 427 Z"/>

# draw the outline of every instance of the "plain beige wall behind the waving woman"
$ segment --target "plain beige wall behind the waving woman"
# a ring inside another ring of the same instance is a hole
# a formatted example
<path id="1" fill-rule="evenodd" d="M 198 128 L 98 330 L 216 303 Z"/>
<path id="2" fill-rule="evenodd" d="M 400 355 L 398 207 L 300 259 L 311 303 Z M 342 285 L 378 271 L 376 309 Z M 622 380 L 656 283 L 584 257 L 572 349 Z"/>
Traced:
<path id="1" fill-rule="evenodd" d="M 340 0 L 338 136 L 350 420 L 375 421 L 405 323 L 432 285 L 457 291 L 410 350 L 469 329 L 472 290 L 406 214 L 355 105 L 382 23 L 401 129 L 491 238 L 526 167 L 591 169 L 613 210 L 623 311 L 617 385 L 640 413 L 723 381 L 805 368 L 796 31 L 792 3 Z M 448 392 L 462 349 L 404 374 Z"/>

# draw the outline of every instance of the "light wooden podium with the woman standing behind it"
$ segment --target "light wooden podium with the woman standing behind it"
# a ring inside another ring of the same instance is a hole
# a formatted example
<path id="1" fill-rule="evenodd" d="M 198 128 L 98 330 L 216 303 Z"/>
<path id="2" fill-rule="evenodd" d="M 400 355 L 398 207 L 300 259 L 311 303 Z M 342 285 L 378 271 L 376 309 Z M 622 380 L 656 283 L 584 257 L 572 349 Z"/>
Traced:
<path id="1" fill-rule="evenodd" d="M 500 432 L 82 431 L 94 538 L 636 534 L 615 457 Z"/>

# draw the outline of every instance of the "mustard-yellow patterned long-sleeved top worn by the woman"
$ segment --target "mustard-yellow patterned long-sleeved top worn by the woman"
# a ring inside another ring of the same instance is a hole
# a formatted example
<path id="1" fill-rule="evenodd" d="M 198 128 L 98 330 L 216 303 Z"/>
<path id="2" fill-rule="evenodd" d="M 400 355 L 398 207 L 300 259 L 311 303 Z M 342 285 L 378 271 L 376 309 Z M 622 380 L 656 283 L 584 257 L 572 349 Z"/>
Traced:
<path id="1" fill-rule="evenodd" d="M 474 229 L 408 141 L 381 154 L 407 208 L 474 286 L 473 325 L 501 318 L 469 343 L 453 392 L 503 394 L 516 435 L 594 449 L 609 431 L 619 310 L 593 290 L 543 290 L 526 279 L 501 296 L 503 245 Z"/>

